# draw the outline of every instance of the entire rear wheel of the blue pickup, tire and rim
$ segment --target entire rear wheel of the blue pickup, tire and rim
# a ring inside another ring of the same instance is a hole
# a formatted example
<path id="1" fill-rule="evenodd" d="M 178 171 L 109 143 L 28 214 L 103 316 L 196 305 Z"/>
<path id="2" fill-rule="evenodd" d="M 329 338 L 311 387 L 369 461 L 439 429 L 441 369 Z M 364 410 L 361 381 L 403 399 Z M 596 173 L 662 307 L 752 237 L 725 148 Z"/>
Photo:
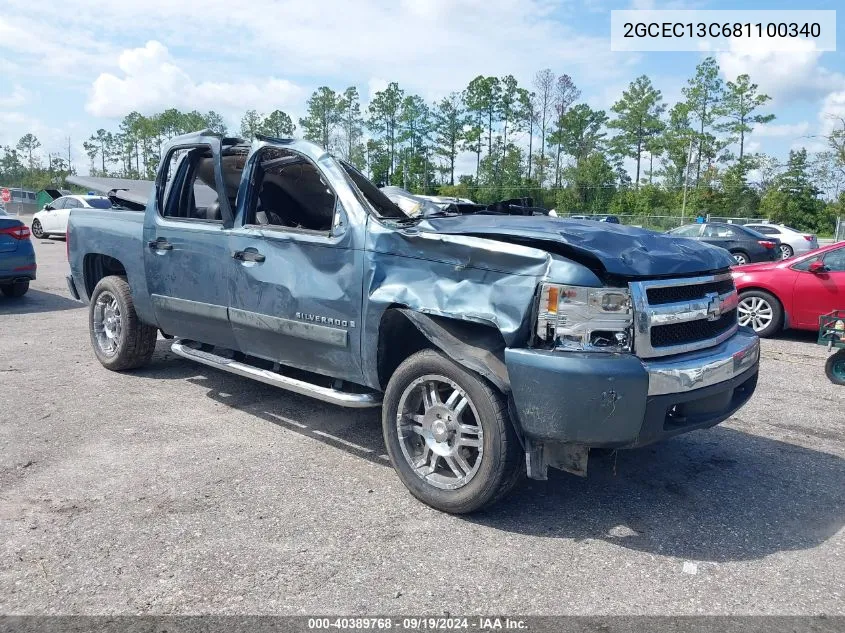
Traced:
<path id="1" fill-rule="evenodd" d="M 129 284 L 123 277 L 104 277 L 94 288 L 88 307 L 88 329 L 97 360 L 112 371 L 142 367 L 155 351 L 158 330 L 138 319 Z"/>

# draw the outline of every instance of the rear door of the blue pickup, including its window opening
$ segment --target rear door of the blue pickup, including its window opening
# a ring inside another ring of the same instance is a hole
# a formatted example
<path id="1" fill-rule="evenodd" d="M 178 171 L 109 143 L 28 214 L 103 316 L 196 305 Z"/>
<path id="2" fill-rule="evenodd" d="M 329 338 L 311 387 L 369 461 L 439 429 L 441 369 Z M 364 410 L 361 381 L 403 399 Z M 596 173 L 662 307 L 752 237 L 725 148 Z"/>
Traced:
<path id="1" fill-rule="evenodd" d="M 172 147 L 144 221 L 147 286 L 159 327 L 177 337 L 235 347 L 227 303 L 232 213 L 220 139 Z M 210 182 L 201 179 L 200 174 Z"/>

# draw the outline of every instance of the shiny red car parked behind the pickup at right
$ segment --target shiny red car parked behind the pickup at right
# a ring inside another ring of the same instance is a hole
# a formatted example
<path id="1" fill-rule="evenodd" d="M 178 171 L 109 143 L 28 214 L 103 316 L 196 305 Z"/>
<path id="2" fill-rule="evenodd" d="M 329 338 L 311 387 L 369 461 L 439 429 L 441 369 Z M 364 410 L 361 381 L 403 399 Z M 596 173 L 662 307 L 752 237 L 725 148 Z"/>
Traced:
<path id="1" fill-rule="evenodd" d="M 819 316 L 845 310 L 845 242 L 806 255 L 737 266 L 739 324 L 762 337 L 785 327 L 818 330 Z"/>

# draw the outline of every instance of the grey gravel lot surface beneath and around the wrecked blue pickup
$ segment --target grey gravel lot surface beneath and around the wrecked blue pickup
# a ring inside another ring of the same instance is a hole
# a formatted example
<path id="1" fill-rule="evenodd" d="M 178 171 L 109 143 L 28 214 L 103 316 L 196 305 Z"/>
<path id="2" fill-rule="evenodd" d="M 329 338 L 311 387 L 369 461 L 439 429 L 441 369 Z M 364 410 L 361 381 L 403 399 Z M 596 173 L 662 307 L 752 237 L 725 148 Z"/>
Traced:
<path id="1" fill-rule="evenodd" d="M 175 357 L 116 374 L 65 246 L 0 297 L 0 613 L 845 614 L 845 388 L 763 343 L 723 425 L 550 471 L 484 514 L 416 502 L 379 413 Z"/>

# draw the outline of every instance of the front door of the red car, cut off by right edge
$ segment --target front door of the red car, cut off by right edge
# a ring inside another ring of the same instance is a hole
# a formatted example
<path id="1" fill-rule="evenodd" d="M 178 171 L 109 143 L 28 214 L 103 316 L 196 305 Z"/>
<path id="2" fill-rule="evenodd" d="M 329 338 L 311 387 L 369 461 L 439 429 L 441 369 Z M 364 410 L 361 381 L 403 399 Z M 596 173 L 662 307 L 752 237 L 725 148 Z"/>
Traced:
<path id="1" fill-rule="evenodd" d="M 815 329 L 819 316 L 832 310 L 845 310 L 845 246 L 822 256 L 825 272 L 810 272 L 810 258 L 793 267 L 799 272 L 795 282 L 795 325 Z"/>

